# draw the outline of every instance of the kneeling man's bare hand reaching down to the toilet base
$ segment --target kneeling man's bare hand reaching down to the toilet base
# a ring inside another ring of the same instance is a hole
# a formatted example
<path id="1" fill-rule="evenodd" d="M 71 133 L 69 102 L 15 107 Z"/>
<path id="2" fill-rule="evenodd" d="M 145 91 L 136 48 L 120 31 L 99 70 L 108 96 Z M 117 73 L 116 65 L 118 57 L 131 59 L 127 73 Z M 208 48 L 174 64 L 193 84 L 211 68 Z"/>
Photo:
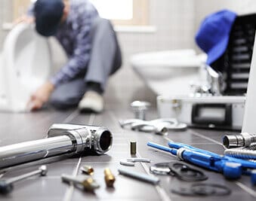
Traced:
<path id="1" fill-rule="evenodd" d="M 48 99 L 51 96 L 51 93 L 54 90 L 54 84 L 51 82 L 46 82 L 35 93 L 32 94 L 30 100 L 27 104 L 27 107 L 31 111 L 39 110 L 42 108 L 45 102 L 48 102 Z"/>

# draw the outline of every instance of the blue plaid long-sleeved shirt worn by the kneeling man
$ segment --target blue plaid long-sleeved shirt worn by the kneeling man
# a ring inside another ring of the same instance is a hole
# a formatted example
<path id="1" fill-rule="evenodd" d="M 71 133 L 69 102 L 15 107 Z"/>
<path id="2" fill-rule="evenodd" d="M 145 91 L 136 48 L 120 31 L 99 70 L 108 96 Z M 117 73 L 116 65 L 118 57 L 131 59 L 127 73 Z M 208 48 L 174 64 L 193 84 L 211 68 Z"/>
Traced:
<path id="1" fill-rule="evenodd" d="M 88 0 L 69 0 L 69 3 L 69 15 L 58 27 L 55 35 L 66 51 L 69 61 L 50 79 L 55 87 L 86 72 L 92 43 L 89 35 L 91 24 L 99 16 Z M 28 14 L 34 15 L 33 8 L 29 9 Z"/>

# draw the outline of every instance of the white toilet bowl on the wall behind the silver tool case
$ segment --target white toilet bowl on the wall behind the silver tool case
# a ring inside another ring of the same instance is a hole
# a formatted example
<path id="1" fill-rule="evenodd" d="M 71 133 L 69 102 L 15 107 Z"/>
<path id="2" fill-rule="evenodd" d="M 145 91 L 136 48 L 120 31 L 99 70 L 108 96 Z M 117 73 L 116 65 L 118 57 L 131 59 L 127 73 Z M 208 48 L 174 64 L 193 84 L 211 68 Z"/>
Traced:
<path id="1" fill-rule="evenodd" d="M 168 50 L 134 55 L 131 65 L 157 95 L 182 96 L 201 82 L 205 60 L 194 50 Z"/>

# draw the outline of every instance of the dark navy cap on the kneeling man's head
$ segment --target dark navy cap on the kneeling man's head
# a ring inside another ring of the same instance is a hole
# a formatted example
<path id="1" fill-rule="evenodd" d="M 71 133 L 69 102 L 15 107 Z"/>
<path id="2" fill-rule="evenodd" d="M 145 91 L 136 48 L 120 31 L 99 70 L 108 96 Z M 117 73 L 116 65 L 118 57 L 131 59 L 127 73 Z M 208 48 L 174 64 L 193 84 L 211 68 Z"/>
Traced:
<path id="1" fill-rule="evenodd" d="M 63 16 L 63 0 L 37 0 L 35 2 L 35 29 L 40 35 L 55 35 Z"/>

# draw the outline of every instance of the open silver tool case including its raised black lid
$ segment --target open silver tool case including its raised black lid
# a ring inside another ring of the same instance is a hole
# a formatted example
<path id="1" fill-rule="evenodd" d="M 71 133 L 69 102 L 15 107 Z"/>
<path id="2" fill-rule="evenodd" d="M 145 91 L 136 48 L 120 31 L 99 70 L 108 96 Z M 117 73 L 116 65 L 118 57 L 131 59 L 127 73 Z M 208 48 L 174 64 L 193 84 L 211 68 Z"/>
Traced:
<path id="1" fill-rule="evenodd" d="M 221 74 L 221 94 L 214 96 L 210 89 L 208 94 L 158 96 L 159 116 L 176 117 L 190 126 L 242 129 L 255 29 L 256 14 L 236 17 L 227 49 L 211 64 Z"/>

